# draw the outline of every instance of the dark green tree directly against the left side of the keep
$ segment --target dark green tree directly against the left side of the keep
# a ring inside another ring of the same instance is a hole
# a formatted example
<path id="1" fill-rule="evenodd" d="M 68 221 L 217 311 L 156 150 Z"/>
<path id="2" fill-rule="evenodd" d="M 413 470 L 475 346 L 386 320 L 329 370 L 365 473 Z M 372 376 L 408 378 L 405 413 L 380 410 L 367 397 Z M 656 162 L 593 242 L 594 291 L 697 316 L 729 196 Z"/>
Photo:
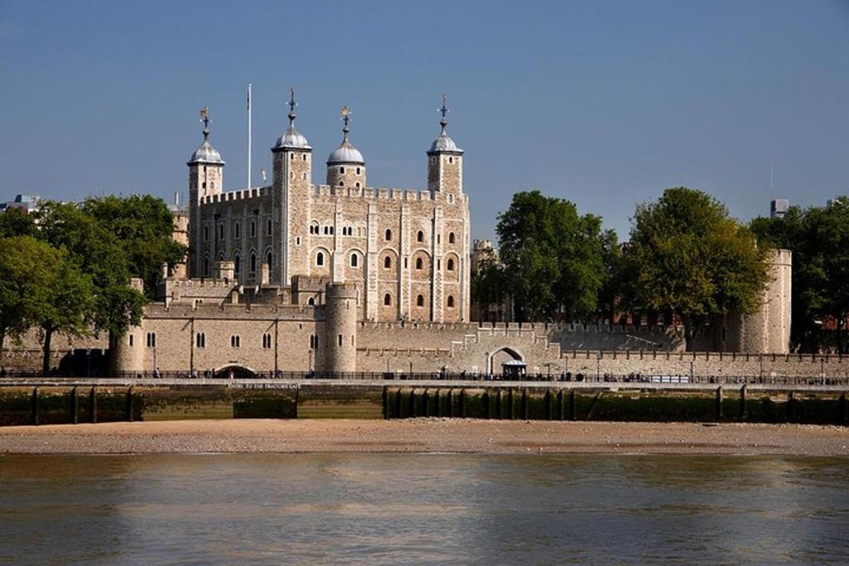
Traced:
<path id="1" fill-rule="evenodd" d="M 82 210 L 117 238 L 131 277 L 143 279 L 145 294 L 154 299 L 162 266 L 172 267 L 186 255 L 186 247 L 171 238 L 174 220 L 165 201 L 150 195 L 107 196 L 87 199 Z"/>

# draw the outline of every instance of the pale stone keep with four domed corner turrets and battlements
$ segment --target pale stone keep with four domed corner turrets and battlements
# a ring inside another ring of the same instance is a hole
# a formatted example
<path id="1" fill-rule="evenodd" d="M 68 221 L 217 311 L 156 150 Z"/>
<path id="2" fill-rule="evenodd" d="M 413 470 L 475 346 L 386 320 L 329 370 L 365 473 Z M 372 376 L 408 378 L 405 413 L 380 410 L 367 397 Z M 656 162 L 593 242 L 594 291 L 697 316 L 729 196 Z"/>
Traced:
<path id="1" fill-rule="evenodd" d="M 284 302 L 323 303 L 326 283 L 356 289 L 363 321 L 469 320 L 469 199 L 463 150 L 441 132 L 426 152 L 427 188 L 372 188 L 351 142 L 330 152 L 314 183 L 313 150 L 289 127 L 271 149 L 273 182 L 224 190 L 221 154 L 204 140 L 188 160 L 188 277 L 275 288 Z M 223 272 L 216 272 L 222 270 Z"/>

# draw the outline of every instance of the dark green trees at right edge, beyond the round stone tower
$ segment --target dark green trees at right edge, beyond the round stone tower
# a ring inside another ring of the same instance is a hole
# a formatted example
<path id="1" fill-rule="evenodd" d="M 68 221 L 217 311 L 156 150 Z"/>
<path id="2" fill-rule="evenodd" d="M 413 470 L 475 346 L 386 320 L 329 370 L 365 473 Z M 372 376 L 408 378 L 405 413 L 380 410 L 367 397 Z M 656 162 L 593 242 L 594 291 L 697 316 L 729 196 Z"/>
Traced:
<path id="1" fill-rule="evenodd" d="M 781 218 L 756 218 L 751 229 L 763 241 L 793 252 L 791 340 L 796 348 L 844 352 L 849 316 L 849 197 L 831 206 L 797 206 Z M 837 326 L 835 344 L 826 344 L 822 322 Z"/>

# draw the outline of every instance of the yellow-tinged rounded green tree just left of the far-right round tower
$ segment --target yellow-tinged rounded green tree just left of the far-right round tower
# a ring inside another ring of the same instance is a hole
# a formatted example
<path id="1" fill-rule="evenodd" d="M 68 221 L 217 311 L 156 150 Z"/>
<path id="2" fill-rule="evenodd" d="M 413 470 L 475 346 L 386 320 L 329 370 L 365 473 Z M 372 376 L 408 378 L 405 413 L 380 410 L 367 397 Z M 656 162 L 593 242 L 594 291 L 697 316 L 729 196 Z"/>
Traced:
<path id="1" fill-rule="evenodd" d="M 638 205 L 627 244 L 626 293 L 646 311 L 681 318 L 687 349 L 714 315 L 750 313 L 767 283 L 767 248 L 722 203 L 689 188 Z"/>

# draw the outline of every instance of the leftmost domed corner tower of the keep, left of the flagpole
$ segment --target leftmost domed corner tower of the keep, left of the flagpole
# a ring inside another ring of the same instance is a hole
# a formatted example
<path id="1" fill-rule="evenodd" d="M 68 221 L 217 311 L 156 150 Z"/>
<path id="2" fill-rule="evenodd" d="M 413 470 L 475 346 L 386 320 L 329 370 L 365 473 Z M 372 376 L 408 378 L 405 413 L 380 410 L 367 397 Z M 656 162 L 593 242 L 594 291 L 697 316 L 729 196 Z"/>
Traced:
<path id="1" fill-rule="evenodd" d="M 202 245 L 200 205 L 206 197 L 221 194 L 224 186 L 224 161 L 212 144 L 210 136 L 209 109 L 200 110 L 200 121 L 204 123 L 204 141 L 189 158 L 188 165 L 188 247 L 189 277 L 209 277 L 209 266 L 201 265 L 200 248 Z"/>

